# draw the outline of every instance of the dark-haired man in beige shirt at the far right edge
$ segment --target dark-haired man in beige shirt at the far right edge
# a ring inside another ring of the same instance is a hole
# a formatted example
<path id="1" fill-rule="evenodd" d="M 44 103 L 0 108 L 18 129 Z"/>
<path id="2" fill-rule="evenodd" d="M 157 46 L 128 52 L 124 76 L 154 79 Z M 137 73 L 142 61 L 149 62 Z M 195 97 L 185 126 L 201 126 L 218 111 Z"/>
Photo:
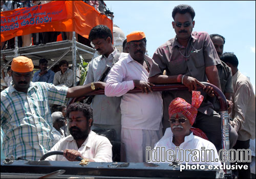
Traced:
<path id="1" fill-rule="evenodd" d="M 255 94 L 250 80 L 238 70 L 238 58 L 233 53 L 224 53 L 221 56 L 232 71 L 234 93 L 232 94 L 234 106 L 232 108 L 231 125 L 238 132 L 238 140 L 233 149 L 249 149 L 250 139 L 255 139 Z M 238 178 L 250 178 L 250 163 L 248 169 L 238 170 Z"/>

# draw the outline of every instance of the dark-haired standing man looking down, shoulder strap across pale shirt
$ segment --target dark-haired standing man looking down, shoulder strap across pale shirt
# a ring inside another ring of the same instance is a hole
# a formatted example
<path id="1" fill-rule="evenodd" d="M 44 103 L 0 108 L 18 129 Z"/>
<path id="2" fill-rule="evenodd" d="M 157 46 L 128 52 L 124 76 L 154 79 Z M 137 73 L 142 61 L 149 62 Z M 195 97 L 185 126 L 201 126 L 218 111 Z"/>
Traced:
<path id="1" fill-rule="evenodd" d="M 99 81 L 102 74 L 105 73 L 108 66 L 110 68 L 118 60 L 120 53 L 113 46 L 113 36 L 111 30 L 103 25 L 95 26 L 89 34 L 89 40 L 94 45 L 95 50 L 100 56 L 90 61 L 88 73 L 83 85 L 90 84 L 94 88 L 94 83 Z M 106 82 L 106 78 L 103 82 Z M 120 97 L 106 97 L 105 95 L 96 95 L 92 100 L 94 124 L 92 130 L 115 129 L 116 141 L 120 141 L 121 136 L 121 113 Z"/>

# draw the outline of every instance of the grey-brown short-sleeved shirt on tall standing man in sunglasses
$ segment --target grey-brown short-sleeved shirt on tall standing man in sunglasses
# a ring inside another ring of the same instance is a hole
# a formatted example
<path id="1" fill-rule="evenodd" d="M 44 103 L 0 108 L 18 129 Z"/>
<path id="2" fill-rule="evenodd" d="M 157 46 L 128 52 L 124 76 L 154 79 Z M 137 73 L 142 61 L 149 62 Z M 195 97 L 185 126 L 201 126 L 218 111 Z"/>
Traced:
<path id="1" fill-rule="evenodd" d="M 187 47 L 181 46 L 176 38 L 170 39 L 160 46 L 154 56 L 150 77 L 163 74 L 166 75 L 187 75 L 199 81 L 207 81 L 205 67 L 220 64 L 220 59 L 215 50 L 214 44 L 205 32 L 193 32 L 187 43 Z M 201 91 L 202 95 L 205 93 Z M 163 93 L 164 120 L 168 120 L 168 106 L 170 101 L 181 97 L 191 103 L 191 92 L 171 91 Z M 203 102 L 198 109 L 201 113 L 210 116 L 213 107 L 210 102 Z"/>

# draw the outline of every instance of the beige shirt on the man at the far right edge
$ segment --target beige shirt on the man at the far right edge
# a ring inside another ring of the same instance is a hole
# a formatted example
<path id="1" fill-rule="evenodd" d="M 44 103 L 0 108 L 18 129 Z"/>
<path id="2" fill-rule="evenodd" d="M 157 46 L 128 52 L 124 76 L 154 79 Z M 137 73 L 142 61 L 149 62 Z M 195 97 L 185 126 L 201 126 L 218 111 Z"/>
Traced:
<path id="1" fill-rule="evenodd" d="M 238 132 L 238 140 L 255 139 L 255 95 L 249 79 L 238 71 L 233 75 L 233 108 L 231 125 Z"/>

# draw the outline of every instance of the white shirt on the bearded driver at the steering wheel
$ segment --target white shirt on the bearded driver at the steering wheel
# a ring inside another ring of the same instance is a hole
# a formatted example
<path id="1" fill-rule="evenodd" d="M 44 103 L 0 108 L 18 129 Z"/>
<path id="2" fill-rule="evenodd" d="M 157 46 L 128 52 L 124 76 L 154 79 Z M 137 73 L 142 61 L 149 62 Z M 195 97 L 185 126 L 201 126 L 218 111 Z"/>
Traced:
<path id="1" fill-rule="evenodd" d="M 65 149 L 77 150 L 82 156 L 95 162 L 112 162 L 112 145 L 110 141 L 104 136 L 97 135 L 92 130 L 80 148 L 77 147 L 74 138 L 69 135 L 55 144 L 50 151 L 63 151 Z M 68 160 L 63 155 L 51 155 L 46 161 Z"/>

